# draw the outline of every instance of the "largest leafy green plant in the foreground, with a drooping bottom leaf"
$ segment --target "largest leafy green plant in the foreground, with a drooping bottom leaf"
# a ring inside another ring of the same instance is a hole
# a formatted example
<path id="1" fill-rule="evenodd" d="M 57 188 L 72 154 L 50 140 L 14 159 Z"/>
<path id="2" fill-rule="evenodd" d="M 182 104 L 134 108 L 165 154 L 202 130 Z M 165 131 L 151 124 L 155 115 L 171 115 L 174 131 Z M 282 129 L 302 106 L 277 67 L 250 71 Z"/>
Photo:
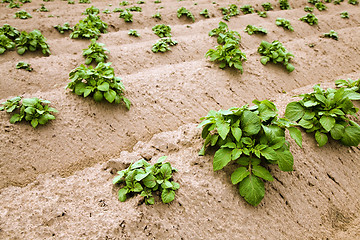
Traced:
<path id="1" fill-rule="evenodd" d="M 210 111 L 199 127 L 203 127 L 204 145 L 216 146 L 213 170 L 218 171 L 235 162 L 238 168 L 231 175 L 231 182 L 239 184 L 239 193 L 251 205 L 258 205 L 264 198 L 263 180 L 273 181 L 268 164 L 277 164 L 282 171 L 293 170 L 293 156 L 285 140 L 285 129 L 296 143 L 302 145 L 301 132 L 295 124 L 278 118 L 276 106 L 268 101 L 254 100 L 248 105 L 228 110 Z"/>

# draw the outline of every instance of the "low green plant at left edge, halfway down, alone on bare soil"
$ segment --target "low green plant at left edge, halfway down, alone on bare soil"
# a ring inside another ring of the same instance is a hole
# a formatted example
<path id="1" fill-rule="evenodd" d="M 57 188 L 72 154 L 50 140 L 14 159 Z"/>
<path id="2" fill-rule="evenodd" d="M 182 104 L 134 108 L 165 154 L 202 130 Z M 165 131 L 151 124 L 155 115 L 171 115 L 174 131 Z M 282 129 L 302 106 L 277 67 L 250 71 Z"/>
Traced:
<path id="1" fill-rule="evenodd" d="M 22 102 L 21 102 L 22 100 Z M 49 106 L 50 102 L 38 98 L 14 97 L 3 102 L 0 111 L 6 110 L 8 113 L 16 111 L 10 118 L 10 123 L 20 122 L 23 119 L 30 122 L 31 126 L 36 128 L 39 124 L 44 125 L 49 120 L 54 120 L 55 116 L 51 113 L 57 113 L 55 108 Z"/>

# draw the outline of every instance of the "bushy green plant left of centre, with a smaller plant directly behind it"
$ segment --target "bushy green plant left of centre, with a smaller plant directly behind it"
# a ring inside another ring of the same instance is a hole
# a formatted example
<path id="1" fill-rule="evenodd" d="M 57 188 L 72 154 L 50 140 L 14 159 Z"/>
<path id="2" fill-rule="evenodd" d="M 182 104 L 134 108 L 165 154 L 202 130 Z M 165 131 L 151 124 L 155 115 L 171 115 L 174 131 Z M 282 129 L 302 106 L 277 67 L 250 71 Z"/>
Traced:
<path id="1" fill-rule="evenodd" d="M 124 102 L 130 109 L 130 101 L 124 97 L 125 87 L 121 78 L 115 77 L 111 63 L 100 62 L 95 68 L 81 65 L 69 73 L 71 82 L 67 88 L 79 96 L 92 96 L 100 102 L 104 98 L 110 103 Z"/>

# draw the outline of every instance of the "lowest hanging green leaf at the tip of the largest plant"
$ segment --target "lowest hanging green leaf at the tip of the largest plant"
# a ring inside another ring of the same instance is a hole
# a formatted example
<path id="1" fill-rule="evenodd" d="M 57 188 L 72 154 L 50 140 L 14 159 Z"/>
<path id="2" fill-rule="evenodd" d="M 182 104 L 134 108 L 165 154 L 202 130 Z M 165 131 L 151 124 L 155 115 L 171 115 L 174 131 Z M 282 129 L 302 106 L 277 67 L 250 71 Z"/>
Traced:
<path id="1" fill-rule="evenodd" d="M 265 196 L 264 182 L 254 175 L 249 175 L 240 182 L 239 193 L 248 203 L 257 206 Z"/>

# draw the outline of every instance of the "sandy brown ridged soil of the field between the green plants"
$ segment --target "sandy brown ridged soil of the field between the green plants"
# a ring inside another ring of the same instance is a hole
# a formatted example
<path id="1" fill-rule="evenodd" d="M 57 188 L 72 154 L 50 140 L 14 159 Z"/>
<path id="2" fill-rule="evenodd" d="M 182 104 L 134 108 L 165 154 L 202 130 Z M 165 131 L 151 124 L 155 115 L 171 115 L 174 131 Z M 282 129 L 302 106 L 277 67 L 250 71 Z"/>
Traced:
<path id="1" fill-rule="evenodd" d="M 266 98 L 283 112 L 291 96 L 311 91 L 314 84 L 334 87 L 336 79 L 359 78 L 359 6 L 346 1 L 326 4 L 328 10 L 315 10 L 317 26 L 298 20 L 306 14 L 305 0 L 289 0 L 293 9 L 287 11 L 270 0 L 275 11 L 268 12 L 268 18 L 257 14 L 231 18 L 228 25 L 241 33 L 248 57 L 241 75 L 233 69 L 220 70 L 204 58 L 216 46 L 208 32 L 221 20 L 219 7 L 252 4 L 261 10 L 265 1 L 212 2 L 146 1 L 140 5 L 143 12 L 134 13 L 133 23 L 124 23 L 119 13 L 100 14 L 109 33 L 98 41 L 110 50 L 109 62 L 133 103 L 130 111 L 64 90 L 69 72 L 84 63 L 81 53 L 89 41 L 70 39 L 53 28 L 64 22 L 75 25 L 91 5 L 112 10 L 119 1 L 68 5 L 33 0 L 21 7 L 33 16 L 27 20 L 14 19 L 18 9 L 0 4 L 0 26 L 39 29 L 52 53 L 1 55 L 1 102 L 17 95 L 41 97 L 59 110 L 55 121 L 37 129 L 27 123 L 10 124 L 9 116 L 0 114 L 0 239 L 359 238 L 359 148 L 336 142 L 318 148 L 313 136 L 304 133 L 303 149 L 292 148 L 295 171 L 272 167 L 276 181 L 266 183 L 265 198 L 254 208 L 231 184 L 232 167 L 214 173 L 212 154 L 197 156 L 202 140 L 196 128 L 211 109 Z M 42 3 L 50 12 L 33 12 Z M 160 6 L 161 21 L 151 18 Z M 176 17 L 182 6 L 194 13 L 195 23 Z M 198 15 L 204 8 L 211 18 Z M 342 11 L 348 11 L 350 19 L 340 18 Z M 295 31 L 277 27 L 278 17 L 289 19 Z M 170 25 L 179 42 L 165 54 L 151 52 L 158 40 L 151 28 L 159 23 Z M 243 32 L 248 24 L 262 26 L 268 34 L 250 36 Z M 137 29 L 141 37 L 128 36 L 129 29 Z M 338 32 L 339 41 L 320 37 L 331 29 Z M 263 66 L 257 53 L 261 40 L 280 40 L 295 55 L 295 71 Z M 15 69 L 19 61 L 30 63 L 34 71 Z M 162 155 L 179 169 L 175 180 L 181 188 L 175 201 L 145 206 L 135 197 L 120 203 L 111 184 L 116 170 L 140 157 L 155 161 Z"/>

